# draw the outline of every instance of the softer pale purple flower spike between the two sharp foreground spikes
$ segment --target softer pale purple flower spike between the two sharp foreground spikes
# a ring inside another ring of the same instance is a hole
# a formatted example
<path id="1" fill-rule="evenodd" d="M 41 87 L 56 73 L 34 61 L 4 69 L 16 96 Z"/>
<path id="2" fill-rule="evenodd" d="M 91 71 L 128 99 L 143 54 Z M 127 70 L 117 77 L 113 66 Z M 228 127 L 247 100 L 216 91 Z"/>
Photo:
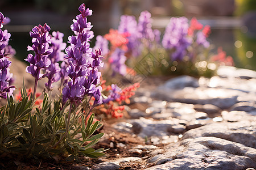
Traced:
<path id="1" fill-rule="evenodd" d="M 64 34 L 59 31 L 52 32 L 52 43 L 49 45 L 49 48 L 52 49 L 52 53 L 48 56 L 51 60 L 51 65 L 47 67 L 45 74 L 48 78 L 48 82 L 46 82 L 46 88 L 48 91 L 52 89 L 52 83 L 59 81 L 61 78 L 67 79 L 67 74 L 61 74 L 61 68 L 59 63 L 57 63 L 59 61 L 64 61 L 65 54 L 62 52 L 62 50 L 66 48 L 66 43 L 63 42 L 63 36 Z M 66 69 L 65 65 L 62 66 L 64 66 L 64 69 Z"/>

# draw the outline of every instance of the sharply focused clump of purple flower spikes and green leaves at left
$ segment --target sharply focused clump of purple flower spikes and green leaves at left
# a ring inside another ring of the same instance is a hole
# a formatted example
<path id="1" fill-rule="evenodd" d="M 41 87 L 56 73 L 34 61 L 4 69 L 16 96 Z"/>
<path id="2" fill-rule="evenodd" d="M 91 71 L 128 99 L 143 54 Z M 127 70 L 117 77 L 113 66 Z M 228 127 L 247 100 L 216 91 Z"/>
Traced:
<path id="1" fill-rule="evenodd" d="M 102 124 L 94 119 L 94 112 L 99 106 L 115 100 L 121 102 L 131 95 L 123 99 L 125 94 L 122 96 L 123 91 L 117 86 L 118 91 L 112 88 L 109 96 L 102 93 L 104 82 L 99 70 L 104 66 L 102 52 L 100 48 L 92 50 L 89 44 L 93 32 L 87 18 L 92 15 L 92 10 L 82 4 L 79 11 L 71 25 L 74 35 L 68 37 L 67 48 L 63 33 L 52 32 L 50 35 L 49 25 L 32 29 L 32 46 L 28 46 L 32 53 L 25 60 L 29 62 L 26 72 L 35 78 L 34 88 L 27 90 L 24 84 L 15 97 L 9 72 L 10 33 L 0 29 L 0 99 L 7 100 L 0 114 L 1 153 L 18 153 L 35 160 L 61 155 L 67 161 L 77 162 L 79 156 L 98 158 L 105 155 L 104 148 L 93 148 L 104 135 L 96 133 Z M 1 28 L 5 19 L 0 12 Z M 65 53 L 62 52 L 64 49 Z M 43 94 L 37 93 L 38 83 L 45 77 L 48 78 L 46 88 Z M 59 82 L 60 95 L 53 97 L 51 92 L 56 82 Z M 40 95 L 43 99 L 39 99 Z M 113 112 L 117 115 L 117 109 Z"/>

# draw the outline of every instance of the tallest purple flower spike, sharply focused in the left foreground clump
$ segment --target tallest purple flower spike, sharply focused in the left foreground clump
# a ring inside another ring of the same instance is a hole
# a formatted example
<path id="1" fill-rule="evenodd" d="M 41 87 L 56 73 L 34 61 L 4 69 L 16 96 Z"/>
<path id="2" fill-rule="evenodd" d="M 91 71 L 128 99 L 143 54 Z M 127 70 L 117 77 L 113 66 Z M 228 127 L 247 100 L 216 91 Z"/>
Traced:
<path id="1" fill-rule="evenodd" d="M 83 3 L 79 11 L 81 14 L 76 16 L 71 25 L 76 36 L 69 36 L 71 45 L 65 50 L 69 62 L 67 72 L 71 82 L 63 88 L 63 102 L 69 99 L 71 103 L 78 104 L 85 96 L 91 96 L 95 99 L 93 105 L 97 105 L 102 103 L 102 88 L 97 86 L 101 76 L 98 67 L 103 66 L 100 59 L 101 50 L 93 53 L 89 44 L 93 32 L 90 31 L 92 25 L 87 22 L 86 17 L 92 15 L 92 10 L 85 8 Z"/>

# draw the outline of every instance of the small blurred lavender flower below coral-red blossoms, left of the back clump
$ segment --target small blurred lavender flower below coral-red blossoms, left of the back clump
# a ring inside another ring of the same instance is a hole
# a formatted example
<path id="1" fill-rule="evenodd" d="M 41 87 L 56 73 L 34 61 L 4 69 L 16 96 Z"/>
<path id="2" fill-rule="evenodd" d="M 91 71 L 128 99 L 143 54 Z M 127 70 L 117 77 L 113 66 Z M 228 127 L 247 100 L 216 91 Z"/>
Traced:
<path id="1" fill-rule="evenodd" d="M 109 62 L 111 63 L 112 70 L 115 73 L 119 73 L 121 75 L 126 74 L 125 61 L 126 61 L 125 51 L 119 48 L 115 49 L 112 56 L 109 58 Z"/>

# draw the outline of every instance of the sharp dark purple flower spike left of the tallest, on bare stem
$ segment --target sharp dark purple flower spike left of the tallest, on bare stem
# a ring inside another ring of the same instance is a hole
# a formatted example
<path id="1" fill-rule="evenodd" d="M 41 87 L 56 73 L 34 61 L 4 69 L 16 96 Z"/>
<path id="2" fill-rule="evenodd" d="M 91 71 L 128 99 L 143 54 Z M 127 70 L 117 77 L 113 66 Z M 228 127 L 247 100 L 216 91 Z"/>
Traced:
<path id="1" fill-rule="evenodd" d="M 48 58 L 53 51 L 49 48 L 49 44 L 52 42 L 49 36 L 50 29 L 47 24 L 44 24 L 43 26 L 35 26 L 30 32 L 33 45 L 27 48 L 28 50 L 34 50 L 35 56 L 28 54 L 25 60 L 30 62 L 30 66 L 27 66 L 26 71 L 35 77 L 36 83 L 45 76 L 40 71 L 51 65 L 51 60 Z"/>

